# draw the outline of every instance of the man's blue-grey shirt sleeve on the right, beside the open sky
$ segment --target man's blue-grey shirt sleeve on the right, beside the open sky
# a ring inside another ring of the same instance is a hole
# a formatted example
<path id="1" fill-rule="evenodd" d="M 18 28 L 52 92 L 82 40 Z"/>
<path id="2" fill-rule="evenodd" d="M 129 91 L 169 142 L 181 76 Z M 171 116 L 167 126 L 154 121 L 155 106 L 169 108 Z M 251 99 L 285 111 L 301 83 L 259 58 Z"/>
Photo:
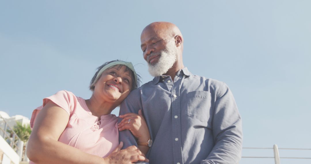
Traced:
<path id="1" fill-rule="evenodd" d="M 201 164 L 236 164 L 242 151 L 242 120 L 233 94 L 225 83 L 221 83 L 216 94 L 212 122 L 215 146 Z"/>

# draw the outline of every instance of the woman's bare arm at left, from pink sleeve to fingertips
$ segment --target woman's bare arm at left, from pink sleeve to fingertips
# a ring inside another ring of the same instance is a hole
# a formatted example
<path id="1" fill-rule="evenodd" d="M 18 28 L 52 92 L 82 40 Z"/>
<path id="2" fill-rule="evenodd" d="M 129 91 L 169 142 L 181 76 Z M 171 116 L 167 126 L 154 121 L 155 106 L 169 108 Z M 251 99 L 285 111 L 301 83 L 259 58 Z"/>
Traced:
<path id="1" fill-rule="evenodd" d="M 121 143 L 116 150 L 108 157 L 102 158 L 58 142 L 59 136 L 65 130 L 69 121 L 68 113 L 61 107 L 53 103 L 47 102 L 41 112 L 38 114 L 33 131 L 30 135 L 27 156 L 37 164 L 40 163 L 76 163 L 76 164 L 104 164 L 117 160 L 119 155 L 125 156 L 130 162 L 143 161 L 145 157 L 136 147 L 129 147 L 121 150 Z M 122 163 L 119 161 L 118 163 Z M 129 162 L 128 162 L 129 163 Z"/>

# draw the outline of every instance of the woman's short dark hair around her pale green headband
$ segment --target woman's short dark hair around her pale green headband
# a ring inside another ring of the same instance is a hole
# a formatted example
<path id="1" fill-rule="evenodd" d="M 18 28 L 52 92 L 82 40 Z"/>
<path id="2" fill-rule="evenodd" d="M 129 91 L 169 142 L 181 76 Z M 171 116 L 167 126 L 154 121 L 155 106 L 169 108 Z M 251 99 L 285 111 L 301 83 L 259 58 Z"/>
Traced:
<path id="1" fill-rule="evenodd" d="M 110 61 L 110 62 L 105 62 L 103 65 L 97 67 L 96 69 L 96 72 L 95 72 L 95 75 L 93 76 L 92 80 L 91 80 L 91 83 L 90 83 L 90 90 L 91 91 L 94 91 L 95 89 L 95 84 L 96 82 L 98 81 L 98 79 L 96 80 L 96 77 L 97 77 L 97 74 L 98 72 L 104 67 L 106 66 L 107 64 L 111 63 L 111 62 L 117 62 L 117 61 L 121 61 L 121 60 L 113 60 L 113 61 Z M 122 66 L 124 65 L 119 65 L 118 68 L 121 68 Z M 111 66 L 111 67 L 114 67 L 114 66 Z M 111 68 L 109 67 L 109 68 Z M 107 68 L 107 69 L 109 69 Z M 141 83 L 141 77 L 139 75 L 137 75 L 137 81 L 135 81 L 135 76 L 134 76 L 134 72 L 129 69 L 127 66 L 126 66 L 126 69 L 125 71 L 128 71 L 130 73 L 130 76 L 131 76 L 131 79 L 132 79 L 132 86 L 131 86 L 131 91 L 134 90 L 134 89 L 137 89 Z M 95 81 L 96 80 L 96 81 Z"/>

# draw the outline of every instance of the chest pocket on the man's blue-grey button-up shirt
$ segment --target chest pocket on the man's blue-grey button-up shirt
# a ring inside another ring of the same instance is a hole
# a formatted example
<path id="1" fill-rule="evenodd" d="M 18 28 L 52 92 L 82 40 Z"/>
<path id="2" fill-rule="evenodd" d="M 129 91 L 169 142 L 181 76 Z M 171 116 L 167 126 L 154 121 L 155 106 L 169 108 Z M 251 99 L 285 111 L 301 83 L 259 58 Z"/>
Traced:
<path id="1" fill-rule="evenodd" d="M 188 116 L 200 121 L 209 121 L 211 112 L 211 93 L 192 91 L 187 93 Z"/>

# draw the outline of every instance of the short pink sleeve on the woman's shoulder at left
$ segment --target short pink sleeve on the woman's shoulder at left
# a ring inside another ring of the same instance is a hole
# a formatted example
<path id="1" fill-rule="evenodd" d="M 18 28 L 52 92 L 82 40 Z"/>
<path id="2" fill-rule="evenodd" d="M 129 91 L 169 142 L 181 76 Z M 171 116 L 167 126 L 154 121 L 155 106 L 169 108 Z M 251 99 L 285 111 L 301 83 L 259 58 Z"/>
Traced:
<path id="1" fill-rule="evenodd" d="M 39 114 L 41 109 L 44 107 L 44 105 L 49 101 L 52 101 L 59 107 L 63 108 L 70 116 L 73 113 L 78 100 L 77 100 L 77 97 L 72 92 L 68 92 L 66 90 L 58 91 L 54 95 L 44 98 L 43 105 L 40 107 L 37 107 L 32 112 L 31 119 L 30 119 L 31 128 L 33 127 L 35 123 L 35 119 L 37 115 Z"/>

